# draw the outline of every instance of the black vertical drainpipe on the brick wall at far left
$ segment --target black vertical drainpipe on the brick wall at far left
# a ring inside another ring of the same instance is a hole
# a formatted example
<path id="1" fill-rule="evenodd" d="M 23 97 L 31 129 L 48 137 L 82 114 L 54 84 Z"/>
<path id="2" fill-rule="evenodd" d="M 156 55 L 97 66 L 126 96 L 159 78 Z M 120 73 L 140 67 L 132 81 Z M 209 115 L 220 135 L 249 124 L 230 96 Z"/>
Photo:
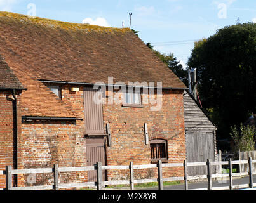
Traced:
<path id="1" fill-rule="evenodd" d="M 15 89 L 13 95 L 13 168 L 18 169 L 18 129 L 17 129 L 17 98 L 15 97 Z M 14 176 L 14 185 L 18 185 L 17 174 Z"/>

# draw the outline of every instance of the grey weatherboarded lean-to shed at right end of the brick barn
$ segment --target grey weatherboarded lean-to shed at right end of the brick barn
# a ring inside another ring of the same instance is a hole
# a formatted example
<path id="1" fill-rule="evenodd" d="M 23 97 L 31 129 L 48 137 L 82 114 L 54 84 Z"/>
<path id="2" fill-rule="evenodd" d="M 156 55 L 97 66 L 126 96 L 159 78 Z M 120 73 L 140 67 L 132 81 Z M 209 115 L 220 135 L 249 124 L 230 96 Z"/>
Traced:
<path id="1" fill-rule="evenodd" d="M 216 126 L 194 97 L 184 92 L 184 121 L 187 162 L 205 162 L 216 157 Z M 206 174 L 205 166 L 189 167 L 189 175 Z"/>

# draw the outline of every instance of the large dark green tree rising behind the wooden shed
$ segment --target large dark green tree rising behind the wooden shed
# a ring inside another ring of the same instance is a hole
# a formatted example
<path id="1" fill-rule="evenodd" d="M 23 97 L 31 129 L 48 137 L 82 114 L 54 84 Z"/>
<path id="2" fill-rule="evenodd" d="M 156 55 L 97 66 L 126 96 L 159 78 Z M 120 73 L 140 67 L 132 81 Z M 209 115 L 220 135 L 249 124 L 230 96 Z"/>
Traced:
<path id="1" fill-rule="evenodd" d="M 224 27 L 198 41 L 188 66 L 197 68 L 201 102 L 220 136 L 256 112 L 256 23 Z"/>

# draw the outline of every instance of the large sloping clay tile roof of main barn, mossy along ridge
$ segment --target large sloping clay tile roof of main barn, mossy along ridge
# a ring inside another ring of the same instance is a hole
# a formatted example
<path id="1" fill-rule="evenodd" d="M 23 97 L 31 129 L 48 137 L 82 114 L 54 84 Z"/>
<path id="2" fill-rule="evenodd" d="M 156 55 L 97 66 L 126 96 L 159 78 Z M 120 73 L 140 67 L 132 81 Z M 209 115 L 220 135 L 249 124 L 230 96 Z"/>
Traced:
<path id="1" fill-rule="evenodd" d="M 8 65 L 27 69 L 36 79 L 107 84 L 114 77 L 114 83 L 186 88 L 130 29 L 0 12 L 0 44 Z"/>

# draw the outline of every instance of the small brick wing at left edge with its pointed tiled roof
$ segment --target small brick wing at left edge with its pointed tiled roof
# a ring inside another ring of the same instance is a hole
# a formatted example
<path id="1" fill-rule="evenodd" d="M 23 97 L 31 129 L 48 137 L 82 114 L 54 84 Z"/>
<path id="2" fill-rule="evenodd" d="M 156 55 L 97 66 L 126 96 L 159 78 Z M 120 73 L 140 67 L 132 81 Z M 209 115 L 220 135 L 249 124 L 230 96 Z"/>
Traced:
<path id="1" fill-rule="evenodd" d="M 15 168 L 19 159 L 17 148 L 20 147 L 17 145 L 21 133 L 20 98 L 25 88 L 1 55 L 0 73 L 0 169 L 5 169 L 6 165 Z M 5 176 L 0 176 L 0 187 L 4 185 Z"/>

